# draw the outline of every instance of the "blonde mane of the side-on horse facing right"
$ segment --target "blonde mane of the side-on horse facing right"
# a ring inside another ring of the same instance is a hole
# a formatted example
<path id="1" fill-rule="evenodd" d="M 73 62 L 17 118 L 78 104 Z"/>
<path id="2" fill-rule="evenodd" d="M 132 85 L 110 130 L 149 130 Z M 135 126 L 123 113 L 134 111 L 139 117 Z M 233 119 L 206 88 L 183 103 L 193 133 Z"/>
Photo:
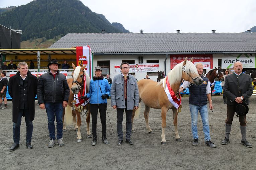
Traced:
<path id="1" fill-rule="evenodd" d="M 182 67 L 183 67 L 183 62 L 182 61 L 181 63 L 177 64 L 168 74 L 167 76 L 169 77 L 168 80 L 169 80 L 169 83 L 170 85 L 174 85 L 178 82 L 181 82 L 182 81 Z M 194 74 L 198 74 L 197 72 L 197 69 L 196 67 L 194 67 L 194 64 L 191 62 L 191 61 L 188 61 L 186 62 L 186 69 L 185 69 L 185 72 L 189 75 L 194 75 Z M 160 82 L 158 82 L 157 85 L 162 85 L 163 84 L 163 81 L 166 80 L 166 78 L 160 80 Z"/>

